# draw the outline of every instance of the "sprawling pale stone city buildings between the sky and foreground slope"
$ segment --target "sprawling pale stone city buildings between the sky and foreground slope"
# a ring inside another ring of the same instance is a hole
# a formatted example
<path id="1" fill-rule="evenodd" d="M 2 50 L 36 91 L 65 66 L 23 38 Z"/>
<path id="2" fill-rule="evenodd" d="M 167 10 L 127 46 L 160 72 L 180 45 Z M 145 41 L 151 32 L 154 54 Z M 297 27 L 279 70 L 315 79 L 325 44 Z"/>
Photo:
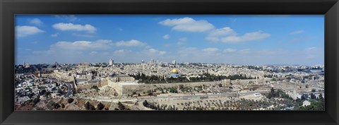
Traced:
<path id="1" fill-rule="evenodd" d="M 38 67 L 43 66 L 43 67 Z M 38 68 L 37 68 L 38 67 Z M 203 77 L 206 74 L 214 76 L 244 76 L 250 79 L 244 80 L 223 80 L 200 83 L 180 83 L 190 89 L 207 88 L 212 93 L 223 93 L 230 90 L 234 93 L 251 93 L 254 90 L 267 92 L 270 88 L 281 88 L 294 100 L 316 90 L 316 96 L 323 95 L 324 74 L 323 65 L 317 66 L 245 66 L 234 64 L 205 64 L 205 63 L 178 63 L 159 62 L 150 59 L 148 63 L 144 60 L 141 63 L 114 63 L 109 59 L 108 63 L 81 63 L 81 64 L 51 64 L 51 65 L 30 65 L 25 62 L 21 67 L 24 69 L 35 69 L 32 73 L 16 73 L 16 101 L 20 104 L 39 96 L 46 97 L 69 97 L 73 95 L 72 90 L 90 90 L 93 86 L 99 88 L 109 86 L 114 88 L 121 97 L 127 97 L 131 93 L 148 93 L 149 90 L 162 88 L 179 88 L 179 84 L 155 83 L 145 84 L 138 82 L 132 76 L 156 76 L 159 78 L 192 78 Z M 37 69 L 42 69 L 41 71 Z M 292 86 L 289 86 L 289 85 Z M 285 86 L 284 86 L 285 85 Z M 287 85 L 287 86 L 286 86 Z M 204 86 L 204 87 L 202 87 Z M 305 87 L 306 86 L 306 87 Z M 66 89 L 67 88 L 67 89 Z M 182 88 L 183 89 L 183 88 Z M 185 88 L 186 89 L 186 88 Z M 49 92 L 45 96 L 42 90 Z M 65 92 L 66 90 L 66 92 Z M 162 90 L 163 91 L 163 90 Z M 215 92 L 214 92 L 215 91 Z M 164 92 L 162 92 L 164 93 Z M 191 93 L 193 94 L 193 93 Z M 225 93 L 223 93 L 225 94 Z M 32 96 L 33 95 L 33 96 Z M 305 102 L 304 105 L 308 105 Z"/>

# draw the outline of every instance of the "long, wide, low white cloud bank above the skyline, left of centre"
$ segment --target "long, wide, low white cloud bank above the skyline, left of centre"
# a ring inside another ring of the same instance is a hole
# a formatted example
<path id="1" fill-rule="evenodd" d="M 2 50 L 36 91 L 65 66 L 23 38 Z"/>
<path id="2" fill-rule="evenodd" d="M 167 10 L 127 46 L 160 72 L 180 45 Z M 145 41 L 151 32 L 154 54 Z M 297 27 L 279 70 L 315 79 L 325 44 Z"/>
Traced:
<path id="1" fill-rule="evenodd" d="M 59 41 L 49 46 L 49 49 L 42 50 L 42 51 L 35 51 L 33 54 L 39 55 L 51 55 L 51 56 L 58 56 L 67 54 L 69 58 L 72 56 L 74 58 L 80 58 L 80 55 L 77 56 L 76 54 L 81 54 L 81 56 L 91 56 L 95 57 L 98 55 L 105 54 L 102 50 L 111 50 L 114 47 L 140 47 L 145 46 L 144 43 L 138 42 L 138 40 L 130 40 L 128 42 L 112 42 L 112 40 L 96 40 L 96 41 L 74 41 L 74 42 L 65 42 Z M 147 50 L 147 51 L 146 51 Z M 166 52 L 158 51 L 156 49 L 145 49 L 145 54 L 153 54 L 155 56 L 159 56 L 165 54 Z M 114 52 L 110 52 L 109 54 L 131 54 L 130 50 L 126 49 L 117 49 Z M 109 55 L 108 54 L 108 55 Z M 66 55 L 65 55 L 66 56 Z M 75 57 L 76 56 L 76 57 Z M 64 57 L 62 57 L 64 58 Z M 85 57 L 88 59 L 89 57 Z"/>

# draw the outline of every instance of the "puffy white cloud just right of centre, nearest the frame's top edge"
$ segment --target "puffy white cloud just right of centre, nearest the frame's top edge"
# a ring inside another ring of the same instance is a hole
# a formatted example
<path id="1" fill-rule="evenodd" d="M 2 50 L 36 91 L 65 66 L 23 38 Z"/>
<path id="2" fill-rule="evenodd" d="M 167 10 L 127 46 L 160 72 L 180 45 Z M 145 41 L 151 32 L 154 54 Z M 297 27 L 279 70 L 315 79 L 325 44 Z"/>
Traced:
<path id="1" fill-rule="evenodd" d="M 172 27 L 172 30 L 185 32 L 206 32 L 212 30 L 214 26 L 206 20 L 194 20 L 193 18 L 174 18 L 159 22 L 161 25 Z"/>

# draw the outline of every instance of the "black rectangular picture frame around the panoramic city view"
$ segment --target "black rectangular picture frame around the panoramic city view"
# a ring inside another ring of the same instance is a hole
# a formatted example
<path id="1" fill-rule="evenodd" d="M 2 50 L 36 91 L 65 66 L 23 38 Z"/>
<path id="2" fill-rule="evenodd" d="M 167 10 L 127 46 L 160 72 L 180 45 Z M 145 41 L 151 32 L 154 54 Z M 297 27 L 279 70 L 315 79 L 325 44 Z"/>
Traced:
<path id="1" fill-rule="evenodd" d="M 1 124 L 339 124 L 338 0 L 0 0 Z M 14 111 L 16 14 L 325 16 L 325 111 Z"/>

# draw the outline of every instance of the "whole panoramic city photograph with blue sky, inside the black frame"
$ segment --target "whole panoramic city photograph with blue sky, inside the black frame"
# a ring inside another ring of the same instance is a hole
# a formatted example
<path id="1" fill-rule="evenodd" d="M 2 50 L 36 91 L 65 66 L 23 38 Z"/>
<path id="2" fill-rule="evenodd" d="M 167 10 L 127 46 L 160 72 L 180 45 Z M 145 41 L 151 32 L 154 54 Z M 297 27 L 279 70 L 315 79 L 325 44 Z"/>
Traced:
<path id="1" fill-rule="evenodd" d="M 325 110 L 323 15 L 15 21 L 15 110 Z"/>

